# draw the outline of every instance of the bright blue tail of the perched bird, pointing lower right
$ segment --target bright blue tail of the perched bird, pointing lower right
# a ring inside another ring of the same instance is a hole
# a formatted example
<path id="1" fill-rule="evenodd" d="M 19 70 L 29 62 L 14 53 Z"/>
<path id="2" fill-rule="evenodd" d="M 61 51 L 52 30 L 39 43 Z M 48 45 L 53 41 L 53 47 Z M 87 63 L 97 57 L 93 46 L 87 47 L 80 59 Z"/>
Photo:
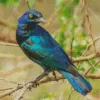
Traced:
<path id="1" fill-rule="evenodd" d="M 63 70 L 60 70 L 59 72 L 69 81 L 73 88 L 82 95 L 86 95 L 92 90 L 89 82 L 78 72 L 76 76 Z"/>

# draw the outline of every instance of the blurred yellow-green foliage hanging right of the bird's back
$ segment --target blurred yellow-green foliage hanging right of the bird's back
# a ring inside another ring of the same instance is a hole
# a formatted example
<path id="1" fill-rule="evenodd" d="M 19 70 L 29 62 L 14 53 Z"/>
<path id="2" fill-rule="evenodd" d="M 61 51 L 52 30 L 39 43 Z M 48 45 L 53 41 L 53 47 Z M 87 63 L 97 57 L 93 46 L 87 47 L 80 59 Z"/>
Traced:
<path id="1" fill-rule="evenodd" d="M 77 19 L 80 19 L 80 17 L 75 17 L 75 8 L 78 7 L 80 0 L 69 0 L 66 4 L 64 4 L 61 0 L 56 1 L 57 7 L 62 8 L 62 11 L 58 16 L 58 22 L 60 23 L 61 27 L 55 32 L 55 39 L 59 42 L 63 49 L 67 51 L 67 53 L 70 53 L 72 39 L 74 38 L 72 43 L 72 56 L 82 56 L 88 45 L 88 38 L 86 33 L 83 32 L 79 21 L 77 21 Z M 79 29 L 81 30 L 78 31 Z M 79 67 L 78 69 L 80 71 L 85 72 L 88 68 L 84 66 L 92 66 L 91 63 L 96 63 L 96 60 L 93 59 L 89 62 L 84 62 L 81 64 L 81 67 L 79 64 L 76 64 L 76 66 Z M 93 68 L 92 72 L 95 71 L 96 69 Z"/>

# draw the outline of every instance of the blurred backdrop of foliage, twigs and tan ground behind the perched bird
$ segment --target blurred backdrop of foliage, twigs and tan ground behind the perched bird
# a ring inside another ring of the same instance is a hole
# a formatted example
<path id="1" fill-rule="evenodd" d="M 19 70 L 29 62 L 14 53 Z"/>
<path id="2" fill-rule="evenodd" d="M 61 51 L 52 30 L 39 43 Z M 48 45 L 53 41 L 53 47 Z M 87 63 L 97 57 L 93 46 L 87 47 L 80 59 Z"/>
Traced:
<path id="1" fill-rule="evenodd" d="M 75 62 L 78 71 L 88 77 L 93 90 L 83 97 L 72 92 L 67 81 L 60 80 L 28 90 L 22 100 L 99 100 L 100 12 L 96 4 L 97 0 L 0 0 L 0 97 L 43 71 L 23 54 L 15 39 L 17 20 L 30 6 L 44 15 L 47 24 L 42 26 Z M 16 91 L 2 100 L 20 100 L 15 99 L 20 93 Z"/>

